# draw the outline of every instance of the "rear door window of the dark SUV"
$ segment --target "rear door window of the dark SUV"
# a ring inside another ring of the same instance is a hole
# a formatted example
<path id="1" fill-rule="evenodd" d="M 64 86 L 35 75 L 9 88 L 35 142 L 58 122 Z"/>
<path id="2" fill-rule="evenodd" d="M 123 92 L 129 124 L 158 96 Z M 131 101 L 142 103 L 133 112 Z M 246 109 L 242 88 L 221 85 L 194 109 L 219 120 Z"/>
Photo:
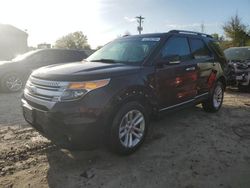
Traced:
<path id="1" fill-rule="evenodd" d="M 211 52 L 208 50 L 205 43 L 200 39 L 190 39 L 190 47 L 195 59 L 211 57 Z"/>

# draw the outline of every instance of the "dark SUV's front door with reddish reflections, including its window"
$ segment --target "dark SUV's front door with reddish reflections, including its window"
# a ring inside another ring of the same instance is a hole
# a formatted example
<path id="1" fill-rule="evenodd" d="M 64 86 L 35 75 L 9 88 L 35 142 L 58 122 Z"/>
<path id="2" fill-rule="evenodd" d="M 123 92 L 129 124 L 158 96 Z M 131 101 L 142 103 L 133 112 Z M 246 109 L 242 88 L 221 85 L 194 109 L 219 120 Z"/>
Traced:
<path id="1" fill-rule="evenodd" d="M 178 60 L 171 59 L 179 57 Z M 162 109 L 191 102 L 197 94 L 197 64 L 192 58 L 187 37 L 171 36 L 160 53 L 156 66 L 156 85 Z"/>

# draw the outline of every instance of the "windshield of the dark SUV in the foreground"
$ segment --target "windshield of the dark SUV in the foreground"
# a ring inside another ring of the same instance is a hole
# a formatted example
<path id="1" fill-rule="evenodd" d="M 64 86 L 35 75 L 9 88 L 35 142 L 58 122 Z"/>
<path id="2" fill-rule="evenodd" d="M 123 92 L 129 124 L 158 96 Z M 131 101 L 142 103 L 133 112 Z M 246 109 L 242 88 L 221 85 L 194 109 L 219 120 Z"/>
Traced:
<path id="1" fill-rule="evenodd" d="M 88 61 L 106 63 L 124 63 L 140 65 L 152 52 L 160 38 L 123 38 L 105 45 L 92 54 Z"/>

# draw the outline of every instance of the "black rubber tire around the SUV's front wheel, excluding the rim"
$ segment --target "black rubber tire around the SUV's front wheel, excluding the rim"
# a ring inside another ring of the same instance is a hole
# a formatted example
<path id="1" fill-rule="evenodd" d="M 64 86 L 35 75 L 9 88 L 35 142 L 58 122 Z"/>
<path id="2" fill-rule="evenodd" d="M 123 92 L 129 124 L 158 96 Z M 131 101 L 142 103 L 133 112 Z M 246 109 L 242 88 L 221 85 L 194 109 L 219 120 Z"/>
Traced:
<path id="1" fill-rule="evenodd" d="M 138 110 L 143 114 L 144 120 L 145 120 L 145 130 L 144 130 L 143 138 L 135 147 L 126 148 L 122 145 L 119 139 L 119 126 L 124 115 L 131 110 Z M 145 137 L 147 135 L 147 130 L 148 130 L 148 124 L 149 124 L 148 114 L 146 113 L 145 108 L 140 103 L 128 102 L 124 104 L 115 114 L 113 122 L 112 122 L 112 126 L 110 127 L 110 138 L 109 138 L 110 148 L 114 152 L 118 154 L 122 154 L 122 155 L 133 153 L 135 150 L 137 150 L 141 146 L 141 144 L 145 140 Z"/>

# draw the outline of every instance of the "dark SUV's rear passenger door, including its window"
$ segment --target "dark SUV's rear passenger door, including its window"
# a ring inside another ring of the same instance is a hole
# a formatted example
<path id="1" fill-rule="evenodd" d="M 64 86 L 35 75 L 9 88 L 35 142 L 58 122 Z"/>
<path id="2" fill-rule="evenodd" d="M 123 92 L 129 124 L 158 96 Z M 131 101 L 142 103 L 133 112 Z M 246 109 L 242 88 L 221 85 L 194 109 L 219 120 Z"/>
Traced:
<path id="1" fill-rule="evenodd" d="M 190 37 L 189 42 L 192 56 L 198 68 L 197 95 L 200 96 L 209 91 L 211 87 L 210 77 L 216 76 L 216 72 L 212 71 L 215 66 L 214 57 L 201 38 Z"/>

